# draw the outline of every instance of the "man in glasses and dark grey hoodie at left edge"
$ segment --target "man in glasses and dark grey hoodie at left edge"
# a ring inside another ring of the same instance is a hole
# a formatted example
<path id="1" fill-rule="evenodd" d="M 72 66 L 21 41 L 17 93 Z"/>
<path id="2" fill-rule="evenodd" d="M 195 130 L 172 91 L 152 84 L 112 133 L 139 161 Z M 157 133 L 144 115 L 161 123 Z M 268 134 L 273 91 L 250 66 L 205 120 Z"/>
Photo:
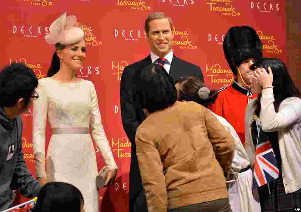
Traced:
<path id="1" fill-rule="evenodd" d="M 24 161 L 20 116 L 39 97 L 37 86 L 36 75 L 24 64 L 11 64 L 0 73 L 0 211 L 12 206 L 13 190 L 33 198 L 41 189 Z"/>

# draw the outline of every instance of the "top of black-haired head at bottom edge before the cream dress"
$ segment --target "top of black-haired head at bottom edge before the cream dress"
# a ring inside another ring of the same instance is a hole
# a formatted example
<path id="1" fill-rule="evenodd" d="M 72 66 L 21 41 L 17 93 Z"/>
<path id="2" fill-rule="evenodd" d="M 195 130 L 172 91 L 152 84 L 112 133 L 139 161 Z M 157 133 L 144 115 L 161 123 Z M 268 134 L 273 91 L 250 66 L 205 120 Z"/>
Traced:
<path id="1" fill-rule="evenodd" d="M 75 186 L 64 182 L 45 184 L 37 196 L 33 212 L 85 212 L 84 198 Z"/>

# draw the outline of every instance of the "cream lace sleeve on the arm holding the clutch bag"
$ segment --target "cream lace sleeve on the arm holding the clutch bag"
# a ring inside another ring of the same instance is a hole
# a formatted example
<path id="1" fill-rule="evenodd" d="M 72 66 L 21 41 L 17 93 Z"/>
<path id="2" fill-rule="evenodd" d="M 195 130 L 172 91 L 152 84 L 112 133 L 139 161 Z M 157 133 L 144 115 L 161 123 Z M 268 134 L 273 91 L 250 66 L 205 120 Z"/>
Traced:
<path id="1" fill-rule="evenodd" d="M 90 112 L 90 126 L 92 129 L 93 139 L 97 145 L 97 148 L 101 151 L 101 155 L 104 158 L 108 169 L 115 170 L 117 169 L 117 165 L 115 163 L 107 136 L 104 133 L 104 127 L 101 124 L 101 115 L 98 108 L 98 99 L 93 83 L 91 88 L 91 104 L 92 109 Z"/>

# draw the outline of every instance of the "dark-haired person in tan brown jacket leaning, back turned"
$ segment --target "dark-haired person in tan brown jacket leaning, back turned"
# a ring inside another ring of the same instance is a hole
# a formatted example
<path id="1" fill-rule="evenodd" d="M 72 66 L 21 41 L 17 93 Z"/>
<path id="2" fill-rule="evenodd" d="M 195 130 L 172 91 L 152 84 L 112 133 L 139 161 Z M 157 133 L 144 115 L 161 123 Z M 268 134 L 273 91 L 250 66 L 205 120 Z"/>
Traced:
<path id="1" fill-rule="evenodd" d="M 177 101 L 175 82 L 159 65 L 135 77 L 135 98 L 147 115 L 135 142 L 148 211 L 231 212 L 231 134 L 205 107 Z"/>

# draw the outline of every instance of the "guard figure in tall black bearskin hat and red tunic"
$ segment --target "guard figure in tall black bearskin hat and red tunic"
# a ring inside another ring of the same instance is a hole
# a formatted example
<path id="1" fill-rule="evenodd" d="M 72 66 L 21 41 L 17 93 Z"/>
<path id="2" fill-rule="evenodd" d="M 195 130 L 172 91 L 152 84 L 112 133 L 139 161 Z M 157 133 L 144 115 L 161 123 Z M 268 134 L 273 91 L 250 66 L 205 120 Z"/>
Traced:
<path id="1" fill-rule="evenodd" d="M 219 89 L 219 95 L 209 109 L 224 117 L 234 127 L 244 145 L 246 107 L 251 99 L 257 97 L 251 92 L 253 71 L 250 66 L 262 58 L 262 43 L 253 28 L 235 26 L 225 35 L 223 49 L 236 79 L 231 86 Z"/>

